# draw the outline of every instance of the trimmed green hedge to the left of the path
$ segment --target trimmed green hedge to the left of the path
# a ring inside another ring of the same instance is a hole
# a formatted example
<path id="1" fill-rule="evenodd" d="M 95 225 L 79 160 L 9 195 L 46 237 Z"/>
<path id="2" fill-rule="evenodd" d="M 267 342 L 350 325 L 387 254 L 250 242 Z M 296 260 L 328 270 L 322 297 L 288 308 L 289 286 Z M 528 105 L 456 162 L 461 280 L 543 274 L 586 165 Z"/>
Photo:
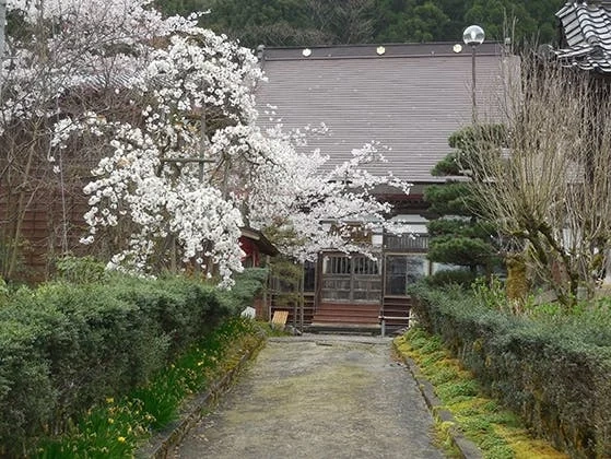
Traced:
<path id="1" fill-rule="evenodd" d="M 238 303 L 178 278 L 16 292 L 0 307 L 0 456 L 23 456 L 38 436 L 143 385 Z"/>

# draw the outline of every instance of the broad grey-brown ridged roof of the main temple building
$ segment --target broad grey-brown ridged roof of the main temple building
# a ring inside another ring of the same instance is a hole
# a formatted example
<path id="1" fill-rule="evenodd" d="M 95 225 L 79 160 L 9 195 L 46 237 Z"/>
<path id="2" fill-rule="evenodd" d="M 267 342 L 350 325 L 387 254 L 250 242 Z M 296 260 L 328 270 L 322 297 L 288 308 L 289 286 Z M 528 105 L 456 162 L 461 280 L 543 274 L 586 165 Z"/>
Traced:
<path id="1" fill-rule="evenodd" d="M 272 123 L 263 119 L 271 105 L 284 128 L 321 122 L 329 128 L 308 148 L 329 154 L 330 165 L 341 164 L 353 149 L 375 140 L 391 151 L 384 152 L 387 164 L 369 172 L 392 170 L 412 183 L 439 181 L 430 172 L 449 153 L 448 137 L 470 125 L 472 115 L 471 49 L 455 45 L 267 48 L 262 67 L 269 81 L 256 92 L 259 122 Z M 498 119 L 503 62 L 516 60 L 504 58 L 498 44 L 477 48 L 480 120 Z"/>

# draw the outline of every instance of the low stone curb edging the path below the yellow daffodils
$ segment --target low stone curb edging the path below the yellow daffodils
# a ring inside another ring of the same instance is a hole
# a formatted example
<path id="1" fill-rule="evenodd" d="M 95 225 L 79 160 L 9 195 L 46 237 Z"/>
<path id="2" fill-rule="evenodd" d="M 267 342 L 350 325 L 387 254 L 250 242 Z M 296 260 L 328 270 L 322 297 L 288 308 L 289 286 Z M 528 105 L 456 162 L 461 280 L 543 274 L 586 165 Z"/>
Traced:
<path id="1" fill-rule="evenodd" d="M 222 377 L 216 379 L 210 385 L 210 388 L 199 395 L 196 399 L 188 402 L 187 407 L 181 411 L 180 419 L 171 423 L 161 433 L 153 436 L 148 445 L 141 447 L 137 452 L 137 458 L 151 458 L 151 459 L 165 459 L 172 452 L 172 449 L 178 445 L 187 433 L 198 423 L 202 417 L 202 411 L 205 408 L 212 407 L 218 400 L 219 396 L 225 392 L 240 373 L 244 365 L 250 361 L 255 352 L 266 342 L 265 334 L 259 336 L 256 345 L 247 349 L 244 355 Z"/>

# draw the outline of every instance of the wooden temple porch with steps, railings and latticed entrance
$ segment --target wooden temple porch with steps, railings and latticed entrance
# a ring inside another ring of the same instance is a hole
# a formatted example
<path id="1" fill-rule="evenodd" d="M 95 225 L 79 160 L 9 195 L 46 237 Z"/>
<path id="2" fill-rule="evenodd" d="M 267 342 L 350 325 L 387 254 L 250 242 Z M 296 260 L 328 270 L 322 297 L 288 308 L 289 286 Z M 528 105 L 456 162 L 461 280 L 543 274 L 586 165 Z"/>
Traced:
<path id="1" fill-rule="evenodd" d="M 376 259 L 320 254 L 305 268 L 303 305 L 272 295 L 270 315 L 287 310 L 287 325 L 312 332 L 391 334 L 407 328 L 411 299 L 406 289 L 430 273 L 426 246 L 425 236 L 386 236 Z"/>

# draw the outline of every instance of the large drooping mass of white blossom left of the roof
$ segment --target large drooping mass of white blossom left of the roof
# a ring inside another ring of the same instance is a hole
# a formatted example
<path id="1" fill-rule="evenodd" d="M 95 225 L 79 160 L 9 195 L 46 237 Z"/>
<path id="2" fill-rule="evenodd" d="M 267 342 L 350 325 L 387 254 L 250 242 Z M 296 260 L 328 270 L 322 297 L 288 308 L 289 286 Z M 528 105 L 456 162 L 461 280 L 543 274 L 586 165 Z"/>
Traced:
<path id="1" fill-rule="evenodd" d="M 57 117 L 49 161 L 74 144 L 83 156 L 101 157 L 84 188 L 90 234 L 82 242 L 93 243 L 102 228 L 131 228 L 110 268 L 154 273 L 168 263 L 172 248 L 179 260 L 214 264 L 230 285 L 231 273 L 242 270 L 242 212 L 228 185 L 219 187 L 231 180 L 212 166 L 202 174 L 193 158 L 210 165 L 256 156 L 242 138 L 258 132 L 251 90 L 262 73 L 249 50 L 198 27 L 197 15 L 164 19 L 150 3 L 10 2 L 26 22 L 48 20 L 54 30 L 37 49 L 10 39 L 2 128 Z M 125 97 L 118 109 L 95 97 L 81 113 L 62 104 L 106 91 Z"/>

